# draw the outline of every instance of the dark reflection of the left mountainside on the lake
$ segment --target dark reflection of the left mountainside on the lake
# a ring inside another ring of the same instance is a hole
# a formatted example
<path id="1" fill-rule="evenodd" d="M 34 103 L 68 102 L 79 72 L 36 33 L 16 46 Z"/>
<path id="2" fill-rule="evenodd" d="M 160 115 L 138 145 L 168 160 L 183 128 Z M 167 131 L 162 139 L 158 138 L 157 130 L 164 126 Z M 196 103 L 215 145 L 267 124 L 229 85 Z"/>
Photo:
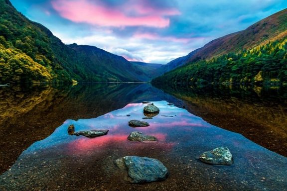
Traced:
<path id="1" fill-rule="evenodd" d="M 146 99 L 180 102 L 148 84 L 0 87 L 0 173 L 66 119 L 94 118 Z"/>

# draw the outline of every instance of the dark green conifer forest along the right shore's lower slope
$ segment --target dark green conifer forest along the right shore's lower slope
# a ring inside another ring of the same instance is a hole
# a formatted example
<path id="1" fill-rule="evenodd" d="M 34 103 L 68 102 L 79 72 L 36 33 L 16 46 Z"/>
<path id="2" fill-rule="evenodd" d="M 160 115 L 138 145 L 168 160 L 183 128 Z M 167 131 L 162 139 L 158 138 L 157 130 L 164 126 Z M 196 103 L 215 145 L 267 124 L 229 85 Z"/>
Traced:
<path id="1" fill-rule="evenodd" d="M 287 83 L 287 37 L 177 68 L 153 83 Z"/>

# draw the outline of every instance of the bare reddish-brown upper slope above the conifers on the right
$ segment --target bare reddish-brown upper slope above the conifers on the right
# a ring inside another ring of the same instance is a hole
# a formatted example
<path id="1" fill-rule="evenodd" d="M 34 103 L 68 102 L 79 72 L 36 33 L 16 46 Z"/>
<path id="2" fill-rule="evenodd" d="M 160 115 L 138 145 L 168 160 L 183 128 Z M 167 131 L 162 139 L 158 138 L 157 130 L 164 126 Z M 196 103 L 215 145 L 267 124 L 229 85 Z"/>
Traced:
<path id="1" fill-rule="evenodd" d="M 211 59 L 229 52 L 238 53 L 287 36 L 287 9 L 279 11 L 245 30 L 212 40 L 202 48 L 177 58 L 158 69 L 159 74 L 199 59 Z"/>

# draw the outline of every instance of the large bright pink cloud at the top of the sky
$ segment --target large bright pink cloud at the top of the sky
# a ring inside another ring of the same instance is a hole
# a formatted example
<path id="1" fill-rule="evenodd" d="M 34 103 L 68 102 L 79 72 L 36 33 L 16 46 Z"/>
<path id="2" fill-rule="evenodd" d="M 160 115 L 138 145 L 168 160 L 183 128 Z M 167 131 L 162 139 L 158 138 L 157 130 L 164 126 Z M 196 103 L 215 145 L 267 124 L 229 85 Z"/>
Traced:
<path id="1" fill-rule="evenodd" d="M 157 10 L 146 4 L 130 5 L 130 1 L 113 8 L 104 6 L 98 0 L 52 0 L 51 3 L 66 19 L 101 26 L 163 28 L 169 26 L 169 18 L 166 16 L 179 14 L 176 9 Z"/>

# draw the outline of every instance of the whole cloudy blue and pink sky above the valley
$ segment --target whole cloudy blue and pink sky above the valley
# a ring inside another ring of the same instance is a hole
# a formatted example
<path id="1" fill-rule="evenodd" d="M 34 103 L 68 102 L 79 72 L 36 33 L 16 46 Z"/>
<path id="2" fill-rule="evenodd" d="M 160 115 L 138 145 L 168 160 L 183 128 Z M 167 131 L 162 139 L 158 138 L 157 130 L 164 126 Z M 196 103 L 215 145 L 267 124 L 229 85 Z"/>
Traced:
<path id="1" fill-rule="evenodd" d="M 166 64 L 287 8 L 287 0 L 10 0 L 65 44 Z"/>

